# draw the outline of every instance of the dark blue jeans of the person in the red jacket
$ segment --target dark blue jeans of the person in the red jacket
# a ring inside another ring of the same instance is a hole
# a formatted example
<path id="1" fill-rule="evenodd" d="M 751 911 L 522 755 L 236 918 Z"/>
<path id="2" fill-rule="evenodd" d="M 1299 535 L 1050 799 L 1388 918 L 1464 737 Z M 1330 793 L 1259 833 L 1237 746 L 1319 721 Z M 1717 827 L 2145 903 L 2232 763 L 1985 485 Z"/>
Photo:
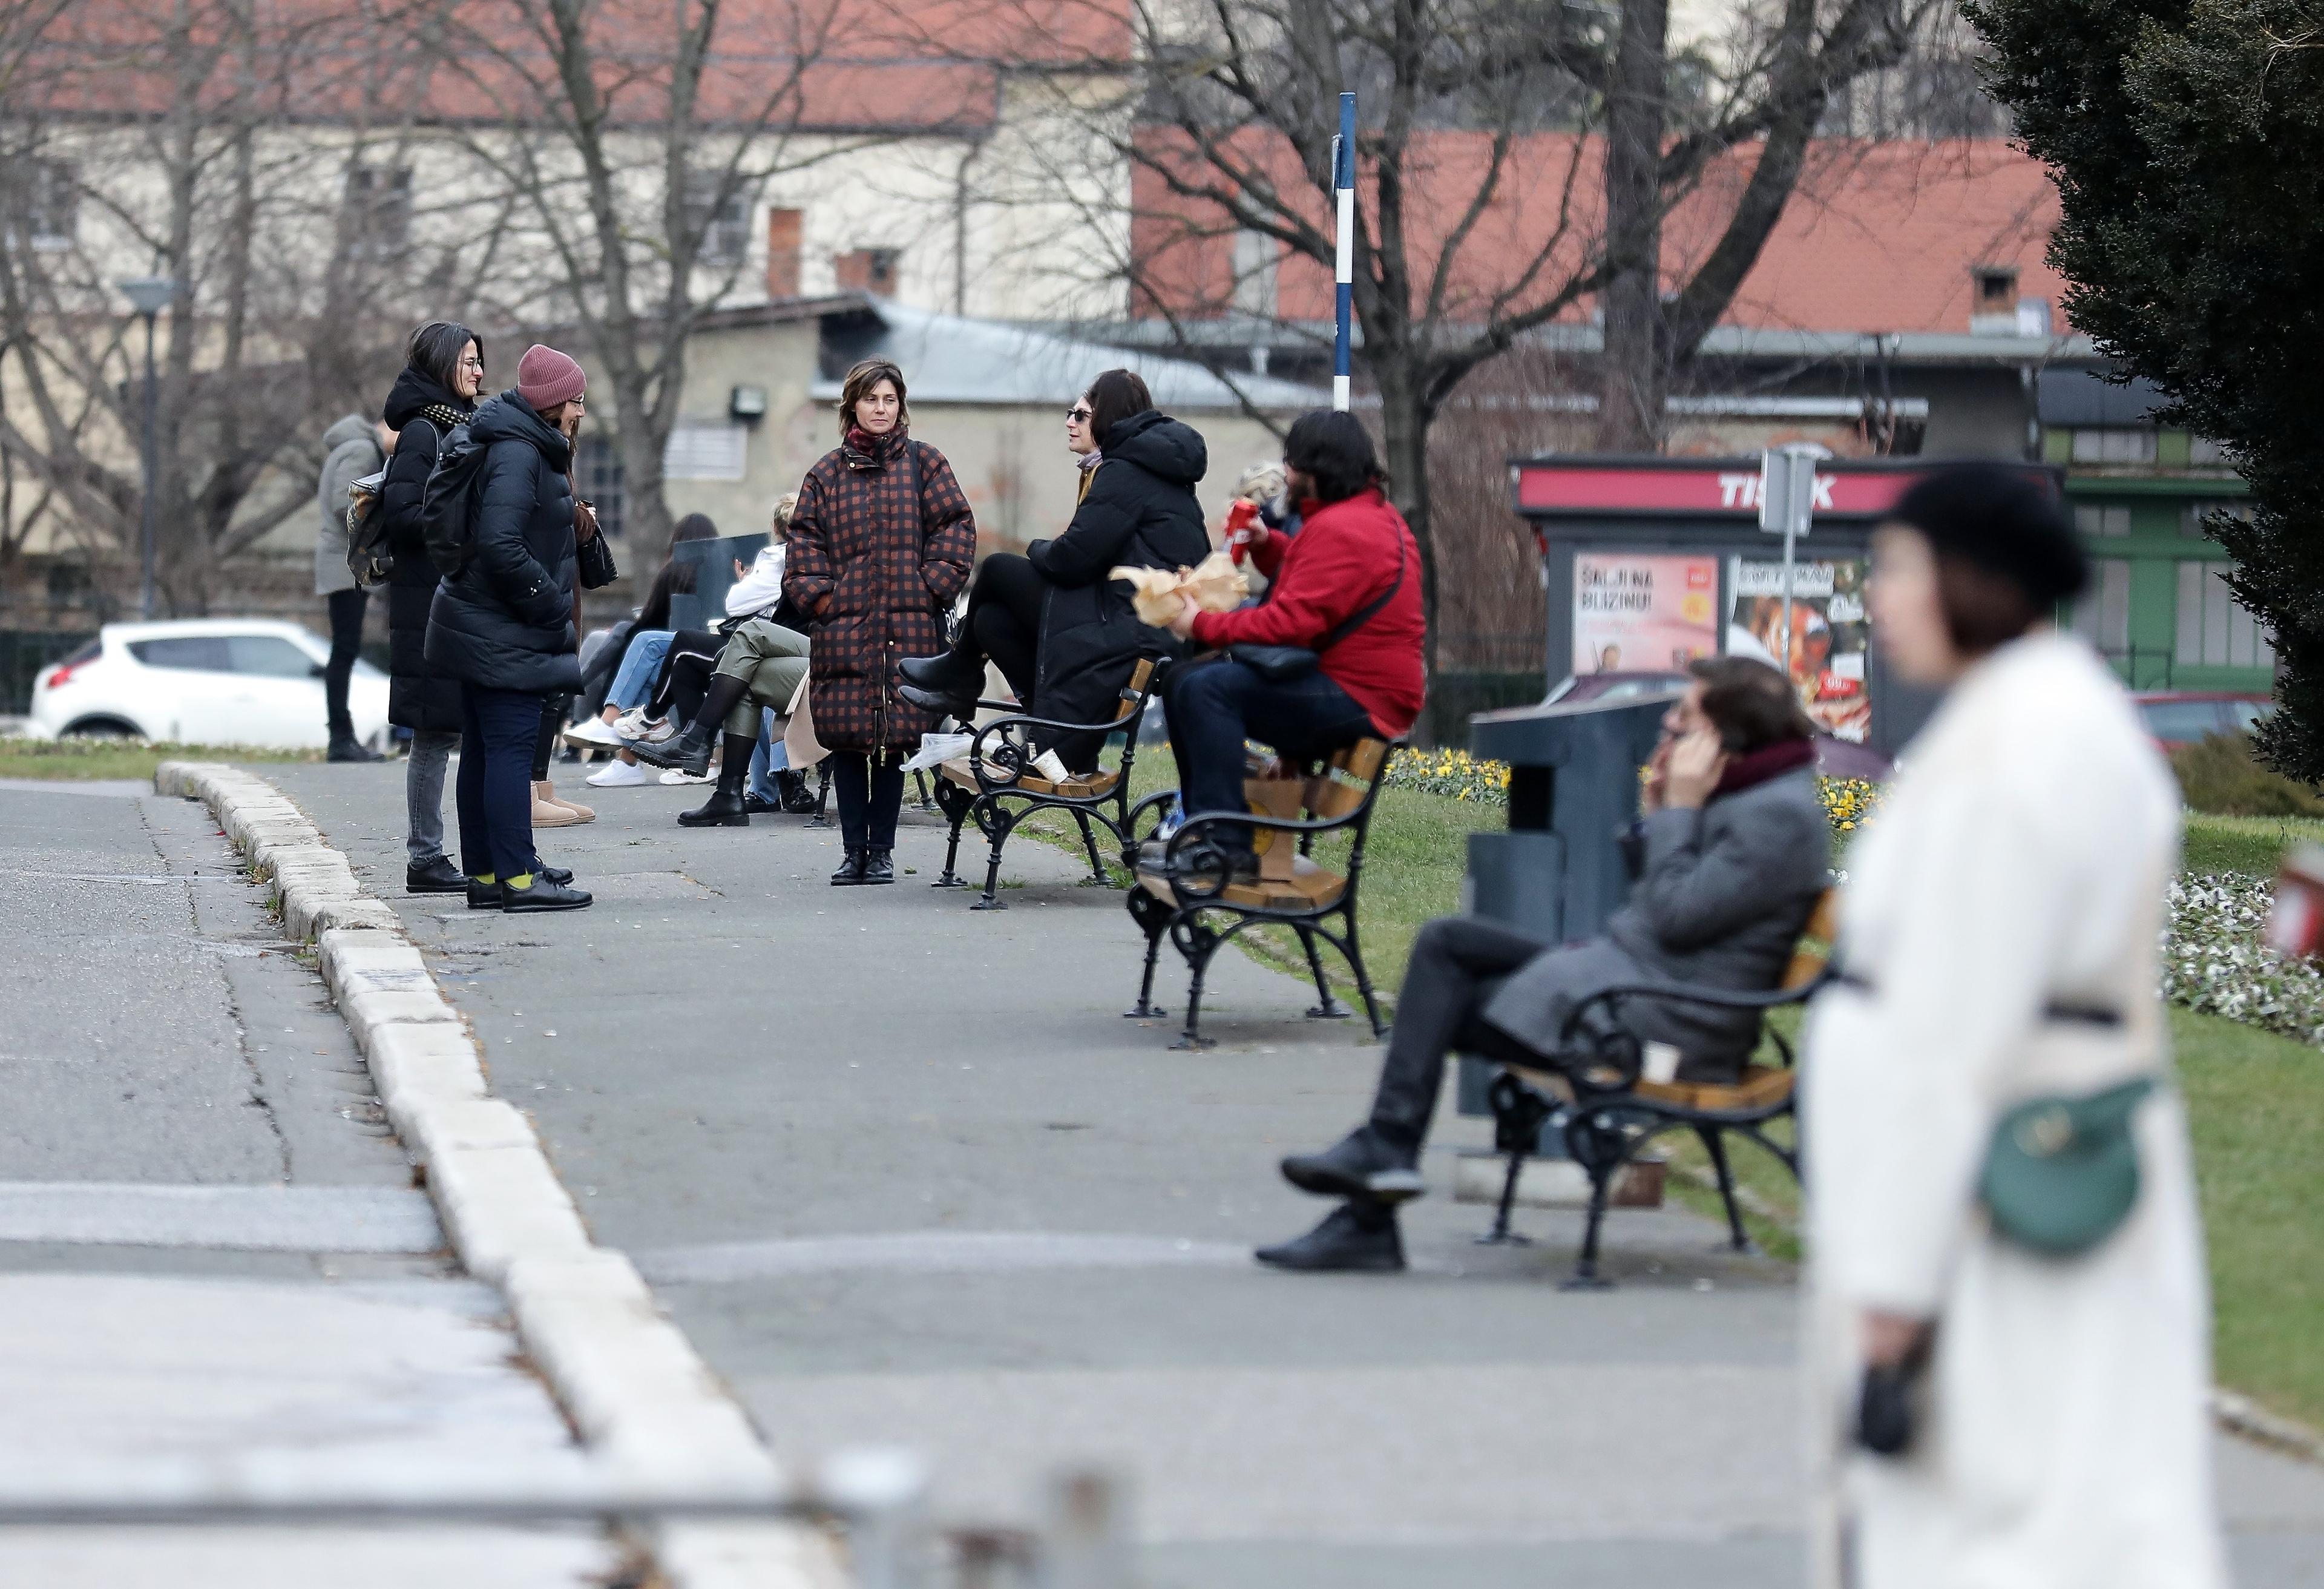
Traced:
<path id="1" fill-rule="evenodd" d="M 1178 757 L 1178 804 L 1190 818 L 1250 808 L 1243 799 L 1246 739 L 1271 746 L 1276 755 L 1306 760 L 1378 732 L 1371 713 L 1320 669 L 1290 683 L 1269 683 L 1225 657 L 1174 667 L 1164 676 L 1162 713 L 1169 718 L 1171 755 Z M 1220 848 L 1250 848 L 1250 827 L 1243 822 L 1222 822 L 1211 834 Z"/>

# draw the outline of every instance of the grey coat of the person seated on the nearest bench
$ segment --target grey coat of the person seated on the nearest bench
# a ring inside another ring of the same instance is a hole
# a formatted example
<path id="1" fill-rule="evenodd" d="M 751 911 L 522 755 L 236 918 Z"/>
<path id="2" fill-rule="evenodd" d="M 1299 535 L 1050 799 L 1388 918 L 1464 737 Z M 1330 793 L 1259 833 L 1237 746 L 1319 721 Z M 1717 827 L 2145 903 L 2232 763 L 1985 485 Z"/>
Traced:
<path id="1" fill-rule="evenodd" d="M 1557 1052 L 1573 1004 L 1622 983 L 1773 987 L 1831 887 L 1831 822 L 1799 769 L 1701 811 L 1657 811 L 1624 836 L 1629 899 L 1601 939 L 1543 950 L 1485 1004 L 1485 1020 Z M 1624 1001 L 1624 1027 L 1680 1050 L 1687 1080 L 1731 1078 L 1759 1034 L 1752 1011 Z"/>

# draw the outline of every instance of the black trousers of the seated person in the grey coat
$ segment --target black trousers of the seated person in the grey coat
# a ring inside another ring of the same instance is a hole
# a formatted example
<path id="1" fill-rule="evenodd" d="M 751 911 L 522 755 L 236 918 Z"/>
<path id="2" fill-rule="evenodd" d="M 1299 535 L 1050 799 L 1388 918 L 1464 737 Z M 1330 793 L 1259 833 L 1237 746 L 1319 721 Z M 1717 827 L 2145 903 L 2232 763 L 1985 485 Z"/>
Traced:
<path id="1" fill-rule="evenodd" d="M 1552 948 L 1541 939 L 1476 915 L 1441 915 L 1413 939 L 1413 959 L 1397 994 L 1371 1129 L 1401 1148 L 1420 1148 L 1446 1085 L 1446 1055 L 1548 1066 L 1550 1059 L 1480 1020 L 1511 971 Z"/>

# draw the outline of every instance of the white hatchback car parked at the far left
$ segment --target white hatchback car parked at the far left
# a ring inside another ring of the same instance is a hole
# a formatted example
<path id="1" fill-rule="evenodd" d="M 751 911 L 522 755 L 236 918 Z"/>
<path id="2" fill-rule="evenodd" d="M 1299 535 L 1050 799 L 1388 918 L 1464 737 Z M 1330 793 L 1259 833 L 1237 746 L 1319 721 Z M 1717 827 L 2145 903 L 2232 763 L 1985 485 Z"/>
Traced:
<path id="1" fill-rule="evenodd" d="M 33 734 L 135 734 L 188 746 L 330 743 L 330 646 L 272 618 L 109 623 L 33 681 Z M 346 683 L 356 739 L 386 748 L 388 676 L 358 660 Z"/>

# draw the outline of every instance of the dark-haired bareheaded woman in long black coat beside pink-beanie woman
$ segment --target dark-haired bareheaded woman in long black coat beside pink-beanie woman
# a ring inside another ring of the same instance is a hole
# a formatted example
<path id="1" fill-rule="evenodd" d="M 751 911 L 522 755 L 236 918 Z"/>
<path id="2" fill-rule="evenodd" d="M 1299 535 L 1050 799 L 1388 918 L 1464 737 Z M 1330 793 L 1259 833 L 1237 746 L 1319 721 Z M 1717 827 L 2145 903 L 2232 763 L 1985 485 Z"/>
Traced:
<path id="1" fill-rule="evenodd" d="M 411 332 L 404 372 L 381 414 L 397 432 L 379 516 L 395 558 L 388 576 L 388 722 L 411 729 L 404 762 L 404 892 L 458 894 L 467 878 L 444 855 L 444 769 L 460 746 L 460 681 L 428 662 L 428 606 L 437 571 L 421 537 L 421 492 L 453 425 L 483 390 L 483 341 L 456 321 Z"/>

